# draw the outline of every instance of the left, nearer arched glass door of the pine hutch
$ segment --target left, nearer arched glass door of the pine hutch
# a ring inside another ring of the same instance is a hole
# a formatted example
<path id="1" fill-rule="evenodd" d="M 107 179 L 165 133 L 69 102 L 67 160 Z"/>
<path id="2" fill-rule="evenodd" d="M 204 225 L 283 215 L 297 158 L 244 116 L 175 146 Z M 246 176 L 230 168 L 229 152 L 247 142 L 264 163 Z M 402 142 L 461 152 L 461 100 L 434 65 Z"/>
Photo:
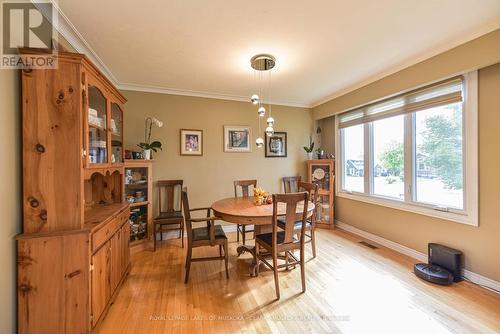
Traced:
<path id="1" fill-rule="evenodd" d="M 108 162 L 106 98 L 95 86 L 88 87 L 88 159 L 91 164 Z"/>

